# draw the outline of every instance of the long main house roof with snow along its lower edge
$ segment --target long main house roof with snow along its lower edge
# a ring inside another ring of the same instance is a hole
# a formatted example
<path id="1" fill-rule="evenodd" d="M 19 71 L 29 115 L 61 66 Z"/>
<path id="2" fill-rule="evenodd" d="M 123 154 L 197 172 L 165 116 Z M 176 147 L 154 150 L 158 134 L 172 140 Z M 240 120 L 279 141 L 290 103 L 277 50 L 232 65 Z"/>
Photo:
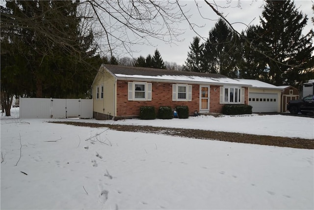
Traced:
<path id="1" fill-rule="evenodd" d="M 103 66 L 120 80 L 184 82 L 191 84 L 237 85 L 250 87 L 244 83 L 221 74 L 209 74 L 192 71 L 175 71 L 167 69 L 143 68 L 133 66 L 109 65 Z"/>

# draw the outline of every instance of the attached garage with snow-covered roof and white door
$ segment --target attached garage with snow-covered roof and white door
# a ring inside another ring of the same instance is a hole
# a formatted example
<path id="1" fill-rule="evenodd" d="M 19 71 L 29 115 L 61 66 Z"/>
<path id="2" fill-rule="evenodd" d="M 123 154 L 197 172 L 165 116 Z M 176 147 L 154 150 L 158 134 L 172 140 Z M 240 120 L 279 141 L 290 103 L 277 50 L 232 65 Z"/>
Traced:
<path id="1" fill-rule="evenodd" d="M 248 104 L 252 106 L 253 113 L 280 112 L 283 88 L 259 80 L 239 80 L 252 86 L 249 88 Z"/>

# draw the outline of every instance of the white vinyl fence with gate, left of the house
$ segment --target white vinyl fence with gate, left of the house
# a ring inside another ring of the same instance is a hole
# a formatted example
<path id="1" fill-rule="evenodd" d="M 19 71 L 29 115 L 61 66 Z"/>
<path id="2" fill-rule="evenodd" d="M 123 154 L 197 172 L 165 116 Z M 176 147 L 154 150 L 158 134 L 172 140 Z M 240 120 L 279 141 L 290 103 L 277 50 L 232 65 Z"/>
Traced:
<path id="1" fill-rule="evenodd" d="M 93 99 L 20 98 L 20 118 L 93 118 Z"/>

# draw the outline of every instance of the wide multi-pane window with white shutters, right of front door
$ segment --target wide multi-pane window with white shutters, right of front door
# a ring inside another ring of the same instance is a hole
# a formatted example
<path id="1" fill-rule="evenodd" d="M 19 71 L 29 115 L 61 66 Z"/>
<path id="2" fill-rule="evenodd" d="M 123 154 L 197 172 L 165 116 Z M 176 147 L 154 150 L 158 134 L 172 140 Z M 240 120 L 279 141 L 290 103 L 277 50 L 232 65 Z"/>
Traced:
<path id="1" fill-rule="evenodd" d="M 244 104 L 244 88 L 220 87 L 220 103 Z"/>

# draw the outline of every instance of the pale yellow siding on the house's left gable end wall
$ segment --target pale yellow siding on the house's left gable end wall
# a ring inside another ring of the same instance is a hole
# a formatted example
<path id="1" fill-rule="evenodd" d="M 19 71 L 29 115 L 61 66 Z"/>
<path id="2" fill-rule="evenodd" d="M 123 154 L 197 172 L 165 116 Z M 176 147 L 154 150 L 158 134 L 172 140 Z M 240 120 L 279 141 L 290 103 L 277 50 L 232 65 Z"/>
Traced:
<path id="1" fill-rule="evenodd" d="M 104 98 L 101 99 L 101 86 L 104 85 Z M 97 99 L 97 86 L 99 87 L 99 99 Z M 93 83 L 94 112 L 115 116 L 115 78 L 102 66 Z"/>

